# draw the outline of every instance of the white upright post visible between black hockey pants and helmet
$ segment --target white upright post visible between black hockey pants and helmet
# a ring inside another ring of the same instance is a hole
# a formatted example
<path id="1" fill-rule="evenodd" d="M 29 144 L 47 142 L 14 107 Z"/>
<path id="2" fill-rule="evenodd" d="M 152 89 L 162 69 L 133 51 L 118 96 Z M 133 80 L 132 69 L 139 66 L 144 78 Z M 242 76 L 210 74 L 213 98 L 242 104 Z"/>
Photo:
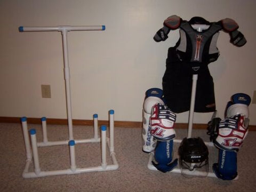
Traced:
<path id="1" fill-rule="evenodd" d="M 191 100 L 190 100 L 190 110 L 189 110 L 189 122 L 188 122 L 188 137 L 191 138 L 192 127 L 194 121 L 194 109 L 195 109 L 195 99 L 196 99 L 196 83 L 197 83 L 197 74 L 194 74 L 192 79 L 192 91 L 191 91 Z"/>

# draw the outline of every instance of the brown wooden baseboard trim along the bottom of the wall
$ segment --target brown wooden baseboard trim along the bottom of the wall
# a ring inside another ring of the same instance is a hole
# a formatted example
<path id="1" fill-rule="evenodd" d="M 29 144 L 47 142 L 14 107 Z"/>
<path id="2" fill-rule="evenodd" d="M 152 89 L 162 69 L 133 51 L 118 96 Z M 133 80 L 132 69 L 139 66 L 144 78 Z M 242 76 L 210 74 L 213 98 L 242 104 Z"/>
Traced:
<path id="1" fill-rule="evenodd" d="M 41 118 L 27 118 L 27 122 L 29 124 L 41 124 Z M 20 117 L 0 117 L 0 123 L 20 123 Z M 67 119 L 59 119 L 59 118 L 47 118 L 47 124 L 54 124 L 54 125 L 67 125 Z M 93 120 L 82 120 L 82 119 L 73 119 L 73 125 L 87 125 L 92 126 Z M 108 125 L 108 121 L 98 121 L 98 125 Z M 142 122 L 132 122 L 132 121 L 115 121 L 116 127 L 134 127 L 134 128 L 141 128 Z M 187 129 L 188 123 L 176 123 L 176 126 L 179 129 Z M 205 129 L 206 130 L 207 124 L 201 123 L 194 123 L 193 129 Z M 250 131 L 256 131 L 256 125 L 249 126 Z"/>

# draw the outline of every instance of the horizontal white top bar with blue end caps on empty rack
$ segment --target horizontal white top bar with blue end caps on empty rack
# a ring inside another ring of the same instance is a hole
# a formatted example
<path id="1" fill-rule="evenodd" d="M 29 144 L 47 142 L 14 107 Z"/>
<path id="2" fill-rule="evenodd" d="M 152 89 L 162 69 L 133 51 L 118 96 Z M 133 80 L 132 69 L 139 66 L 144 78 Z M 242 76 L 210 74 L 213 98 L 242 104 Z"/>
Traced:
<path id="1" fill-rule="evenodd" d="M 78 31 L 78 30 L 105 30 L 103 26 L 45 26 L 45 27 L 19 27 L 19 31 Z"/>

